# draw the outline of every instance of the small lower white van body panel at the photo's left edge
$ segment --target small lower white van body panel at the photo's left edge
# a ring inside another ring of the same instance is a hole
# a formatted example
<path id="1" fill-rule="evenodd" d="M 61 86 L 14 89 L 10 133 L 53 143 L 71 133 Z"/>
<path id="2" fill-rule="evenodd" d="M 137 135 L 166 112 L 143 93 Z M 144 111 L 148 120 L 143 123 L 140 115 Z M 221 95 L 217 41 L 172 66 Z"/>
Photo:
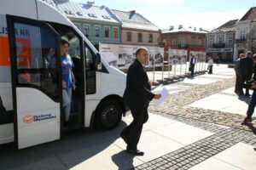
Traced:
<path id="1" fill-rule="evenodd" d="M 0 144 L 15 141 L 14 123 L 0 125 Z"/>

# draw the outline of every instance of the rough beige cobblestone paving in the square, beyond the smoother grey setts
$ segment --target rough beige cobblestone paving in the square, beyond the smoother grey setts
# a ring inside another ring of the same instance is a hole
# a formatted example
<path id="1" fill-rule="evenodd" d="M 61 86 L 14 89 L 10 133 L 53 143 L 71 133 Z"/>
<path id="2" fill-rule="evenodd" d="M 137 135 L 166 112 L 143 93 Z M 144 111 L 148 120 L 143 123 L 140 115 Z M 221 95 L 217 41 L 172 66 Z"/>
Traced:
<path id="1" fill-rule="evenodd" d="M 183 85 L 183 82 L 177 82 L 176 84 Z M 186 83 L 186 85 L 189 84 Z M 249 127 L 241 125 L 241 121 L 244 119 L 242 115 L 187 106 L 199 99 L 231 88 L 234 85 L 235 77 L 204 85 L 190 84 L 190 88 L 176 94 L 171 94 L 158 108 L 154 108 L 154 105 L 151 103 L 148 110 L 252 131 Z M 255 122 L 253 120 L 253 123 Z"/>

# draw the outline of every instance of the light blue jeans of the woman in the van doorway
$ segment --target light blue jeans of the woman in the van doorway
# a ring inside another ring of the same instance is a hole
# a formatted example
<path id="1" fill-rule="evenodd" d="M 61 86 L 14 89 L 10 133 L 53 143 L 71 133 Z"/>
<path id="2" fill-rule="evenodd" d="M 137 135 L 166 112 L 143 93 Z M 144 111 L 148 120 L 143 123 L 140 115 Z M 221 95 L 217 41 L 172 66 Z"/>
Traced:
<path id="1" fill-rule="evenodd" d="M 68 118 L 70 115 L 71 99 L 72 99 L 72 88 L 62 89 L 62 100 L 63 100 L 65 118 Z"/>

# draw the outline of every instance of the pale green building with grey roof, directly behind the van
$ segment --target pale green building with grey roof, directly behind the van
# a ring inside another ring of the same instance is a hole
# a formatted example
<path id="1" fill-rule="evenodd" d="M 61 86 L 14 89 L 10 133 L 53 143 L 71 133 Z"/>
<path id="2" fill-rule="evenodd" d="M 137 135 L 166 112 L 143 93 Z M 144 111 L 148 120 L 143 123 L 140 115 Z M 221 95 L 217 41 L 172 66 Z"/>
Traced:
<path id="1" fill-rule="evenodd" d="M 61 10 L 69 20 L 98 48 L 99 42 L 121 43 L 120 20 L 105 6 L 95 6 L 92 2 L 72 3 L 69 0 L 46 0 Z"/>

